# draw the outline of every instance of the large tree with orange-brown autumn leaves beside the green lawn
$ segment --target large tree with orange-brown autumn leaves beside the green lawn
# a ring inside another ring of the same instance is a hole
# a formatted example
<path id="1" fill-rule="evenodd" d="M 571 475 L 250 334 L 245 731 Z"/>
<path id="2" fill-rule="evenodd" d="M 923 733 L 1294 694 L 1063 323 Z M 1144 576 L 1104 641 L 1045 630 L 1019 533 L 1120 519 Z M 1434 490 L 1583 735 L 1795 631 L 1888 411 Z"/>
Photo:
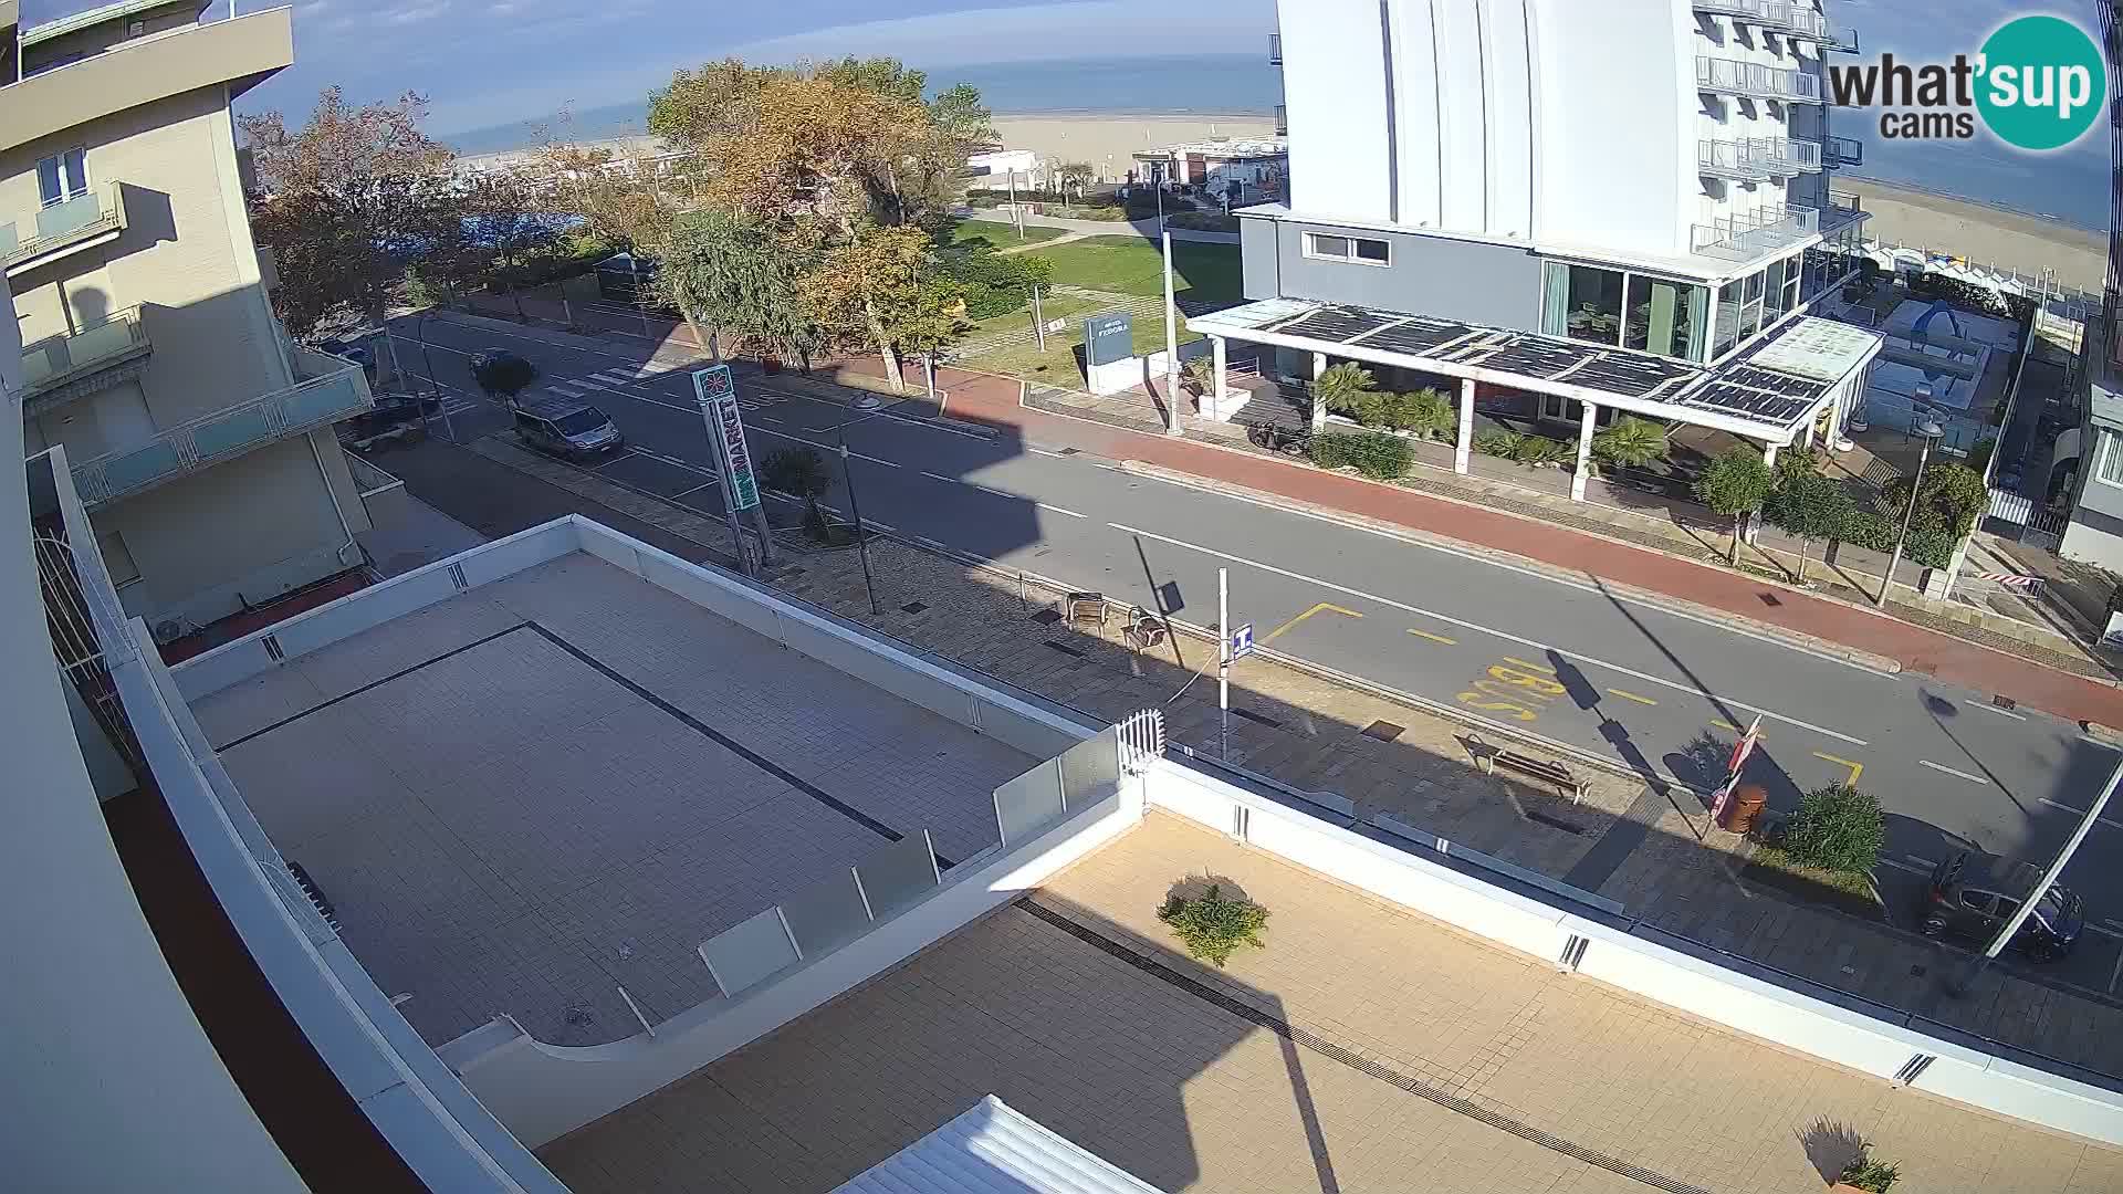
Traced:
<path id="1" fill-rule="evenodd" d="M 817 348 L 866 346 L 900 387 L 902 348 L 928 355 L 955 334 L 962 295 L 926 227 L 947 217 L 966 153 L 994 136 L 979 91 L 924 89 L 896 59 L 679 70 L 650 100 L 650 132 L 692 155 L 713 212 L 681 219 L 664 251 L 679 310 L 771 351 L 790 327 Z M 796 287 L 749 306 L 701 302 L 743 276 Z"/>

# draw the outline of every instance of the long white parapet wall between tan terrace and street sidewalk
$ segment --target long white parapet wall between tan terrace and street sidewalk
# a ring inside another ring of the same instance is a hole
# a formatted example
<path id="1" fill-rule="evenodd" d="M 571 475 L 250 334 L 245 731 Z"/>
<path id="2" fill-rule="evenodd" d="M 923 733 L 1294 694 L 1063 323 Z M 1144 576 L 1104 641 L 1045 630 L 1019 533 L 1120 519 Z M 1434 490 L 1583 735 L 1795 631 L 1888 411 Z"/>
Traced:
<path id="1" fill-rule="evenodd" d="M 1344 884 L 1677 1011 L 1788 1050 L 1926 1090 L 1970 1107 L 2123 1145 L 2123 1094 L 2038 1071 L 1909 1026 L 1858 999 L 1792 990 L 1630 931 L 1622 918 L 1580 916 L 1323 818 L 1246 792 L 1170 758 L 1151 765 L 1144 799 Z"/>

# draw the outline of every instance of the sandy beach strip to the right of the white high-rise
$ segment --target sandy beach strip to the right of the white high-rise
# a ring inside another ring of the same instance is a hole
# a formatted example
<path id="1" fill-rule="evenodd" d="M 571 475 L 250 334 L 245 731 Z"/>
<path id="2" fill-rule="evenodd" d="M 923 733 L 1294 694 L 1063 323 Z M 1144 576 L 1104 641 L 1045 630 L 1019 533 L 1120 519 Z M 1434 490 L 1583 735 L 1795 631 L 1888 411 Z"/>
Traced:
<path id="1" fill-rule="evenodd" d="M 2055 270 L 2057 283 L 2093 293 L 2108 274 L 2108 238 L 2098 232 L 1864 178 L 1836 178 L 1834 187 L 1858 193 L 1864 210 L 1872 212 L 1864 225 L 1872 240 L 1953 253 L 2021 274 Z"/>

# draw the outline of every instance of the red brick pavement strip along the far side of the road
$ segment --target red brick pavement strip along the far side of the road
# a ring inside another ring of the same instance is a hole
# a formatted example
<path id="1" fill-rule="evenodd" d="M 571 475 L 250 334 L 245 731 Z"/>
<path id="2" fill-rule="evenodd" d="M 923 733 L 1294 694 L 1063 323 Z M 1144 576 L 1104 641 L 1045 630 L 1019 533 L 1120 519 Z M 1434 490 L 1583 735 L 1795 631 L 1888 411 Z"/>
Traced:
<path id="1" fill-rule="evenodd" d="M 868 376 L 883 372 L 881 363 L 864 359 L 847 361 L 843 368 L 860 370 Z M 936 370 L 936 382 L 949 391 L 949 412 L 953 416 L 1017 427 L 1045 444 L 1074 446 L 1108 459 L 1146 461 L 1465 544 L 1505 550 L 1616 584 L 1664 593 L 1711 610 L 1726 610 L 1792 633 L 1898 659 L 1909 671 L 1930 673 L 1977 693 L 2004 695 L 2017 703 L 2064 718 L 2123 724 L 2123 690 L 2119 688 L 1887 614 L 1824 597 L 1809 597 L 1792 589 L 1762 584 L 1724 567 L 1633 548 L 1616 540 L 1586 535 L 1533 518 L 1444 501 L 1350 476 L 1325 474 L 1250 453 L 1236 453 L 1191 440 L 1144 436 L 1087 419 L 1032 410 L 1019 404 L 1019 387 L 1008 378 Z"/>

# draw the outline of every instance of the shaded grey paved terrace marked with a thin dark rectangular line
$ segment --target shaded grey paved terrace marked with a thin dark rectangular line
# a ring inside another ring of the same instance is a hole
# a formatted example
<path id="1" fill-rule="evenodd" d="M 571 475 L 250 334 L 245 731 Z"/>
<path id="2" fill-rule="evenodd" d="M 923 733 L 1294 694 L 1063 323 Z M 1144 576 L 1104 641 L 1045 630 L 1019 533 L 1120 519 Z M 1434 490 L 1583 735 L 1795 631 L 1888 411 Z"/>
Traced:
<path id="1" fill-rule="evenodd" d="M 588 1045 L 715 996 L 696 945 L 890 841 L 996 839 L 1034 758 L 588 555 L 195 701 L 431 1043 Z"/>

